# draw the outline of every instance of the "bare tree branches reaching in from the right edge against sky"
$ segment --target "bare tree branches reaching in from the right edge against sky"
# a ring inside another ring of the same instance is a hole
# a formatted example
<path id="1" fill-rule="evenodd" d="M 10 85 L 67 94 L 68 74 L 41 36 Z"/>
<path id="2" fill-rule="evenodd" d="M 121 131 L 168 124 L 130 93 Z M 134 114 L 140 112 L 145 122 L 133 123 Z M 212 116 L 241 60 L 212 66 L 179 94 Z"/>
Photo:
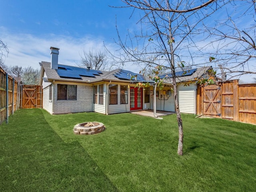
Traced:
<path id="1" fill-rule="evenodd" d="M 204 54 L 216 58 L 216 69 L 227 79 L 256 74 L 256 1 L 232 1 L 232 5 L 215 19 L 214 25 L 204 25 L 209 36 L 201 50 L 210 51 L 208 56 L 199 53 L 199 57 Z"/>

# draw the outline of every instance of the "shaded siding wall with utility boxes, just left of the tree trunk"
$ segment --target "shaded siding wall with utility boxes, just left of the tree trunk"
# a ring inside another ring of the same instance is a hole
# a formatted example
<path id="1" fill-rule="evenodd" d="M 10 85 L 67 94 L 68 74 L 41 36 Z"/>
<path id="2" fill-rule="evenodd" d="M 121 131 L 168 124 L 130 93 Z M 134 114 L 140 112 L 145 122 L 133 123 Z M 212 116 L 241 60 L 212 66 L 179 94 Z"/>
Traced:
<path id="1" fill-rule="evenodd" d="M 156 110 L 175 111 L 174 94 L 172 92 L 170 97 L 163 95 L 163 90 L 158 90 L 159 95 L 156 97 Z M 161 98 L 162 95 L 162 98 Z"/>

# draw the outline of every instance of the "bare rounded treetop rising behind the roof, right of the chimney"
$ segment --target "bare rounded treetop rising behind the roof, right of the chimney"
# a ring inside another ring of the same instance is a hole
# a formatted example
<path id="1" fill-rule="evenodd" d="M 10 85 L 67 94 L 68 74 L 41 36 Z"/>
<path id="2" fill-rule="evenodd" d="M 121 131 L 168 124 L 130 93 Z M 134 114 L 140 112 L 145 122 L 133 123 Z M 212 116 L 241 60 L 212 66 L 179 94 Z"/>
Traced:
<path id="1" fill-rule="evenodd" d="M 76 65 L 83 68 L 90 67 L 91 69 L 103 71 L 110 71 L 117 68 L 115 63 L 111 63 L 108 60 L 106 52 L 100 49 L 96 49 L 95 51 L 90 50 L 89 52 L 84 50 L 80 59 L 80 63 Z"/>

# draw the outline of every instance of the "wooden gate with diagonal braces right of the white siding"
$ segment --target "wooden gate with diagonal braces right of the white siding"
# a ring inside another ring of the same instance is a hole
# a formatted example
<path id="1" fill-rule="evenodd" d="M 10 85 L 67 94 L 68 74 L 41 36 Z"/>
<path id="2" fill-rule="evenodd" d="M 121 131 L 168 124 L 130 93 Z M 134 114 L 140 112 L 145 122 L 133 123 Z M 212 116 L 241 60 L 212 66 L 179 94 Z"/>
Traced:
<path id="1" fill-rule="evenodd" d="M 203 115 L 221 118 L 221 86 L 209 85 L 202 89 Z"/>

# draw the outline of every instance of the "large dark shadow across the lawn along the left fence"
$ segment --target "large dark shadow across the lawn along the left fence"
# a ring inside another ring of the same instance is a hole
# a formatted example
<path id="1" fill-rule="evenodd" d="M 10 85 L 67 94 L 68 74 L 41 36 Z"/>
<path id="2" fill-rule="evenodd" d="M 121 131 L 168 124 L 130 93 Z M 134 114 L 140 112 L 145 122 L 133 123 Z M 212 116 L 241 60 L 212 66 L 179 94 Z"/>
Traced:
<path id="1" fill-rule="evenodd" d="M 40 110 L 18 110 L 0 127 L 0 167 L 0 191 L 118 191 L 78 142 L 62 141 Z"/>

